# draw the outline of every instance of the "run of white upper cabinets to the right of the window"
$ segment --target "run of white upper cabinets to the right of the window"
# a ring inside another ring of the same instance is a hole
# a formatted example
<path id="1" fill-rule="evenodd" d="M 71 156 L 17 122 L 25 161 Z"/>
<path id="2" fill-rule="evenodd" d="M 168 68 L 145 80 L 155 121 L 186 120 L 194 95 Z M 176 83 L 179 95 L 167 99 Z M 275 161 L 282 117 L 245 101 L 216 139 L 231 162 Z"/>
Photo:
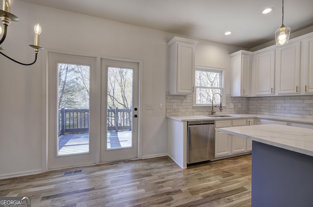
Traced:
<path id="1" fill-rule="evenodd" d="M 231 96 L 313 94 L 313 32 L 283 46 L 232 53 L 230 64 Z"/>

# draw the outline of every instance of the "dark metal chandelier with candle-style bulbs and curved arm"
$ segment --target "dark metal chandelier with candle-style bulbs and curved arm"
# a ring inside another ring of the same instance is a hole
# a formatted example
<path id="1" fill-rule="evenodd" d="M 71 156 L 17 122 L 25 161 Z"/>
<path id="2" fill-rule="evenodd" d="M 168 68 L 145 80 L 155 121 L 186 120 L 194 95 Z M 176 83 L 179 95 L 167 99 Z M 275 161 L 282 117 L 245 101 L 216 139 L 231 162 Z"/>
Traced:
<path id="1" fill-rule="evenodd" d="M 10 13 L 10 0 L 3 0 L 2 1 L 2 10 L 0 9 L 0 18 L 3 24 L 3 31 L 2 28 L 0 27 L 0 35 L 2 34 L 2 38 L 0 39 L 0 45 L 2 44 L 2 42 L 5 40 L 6 37 L 6 33 L 7 33 L 7 27 L 9 26 L 9 24 L 11 23 L 11 21 L 20 21 L 18 17 L 16 17 L 15 15 Z M 37 55 L 39 53 L 40 50 L 43 50 L 44 48 L 39 46 L 39 35 L 41 33 L 41 26 L 39 23 L 37 23 L 34 26 L 34 31 L 35 31 L 35 43 L 34 44 L 29 44 L 30 47 L 34 48 L 35 51 L 35 60 L 34 62 L 31 63 L 22 63 L 22 62 L 18 62 L 16 60 L 14 60 L 13 58 L 10 58 L 9 56 L 5 55 L 4 53 L 2 53 L 0 51 L 0 54 L 3 55 L 4 57 L 10 59 L 11 61 L 14 61 L 16 63 L 22 64 L 22 65 L 32 65 L 37 61 Z M 0 47 L 0 50 L 4 50 L 3 47 Z"/>

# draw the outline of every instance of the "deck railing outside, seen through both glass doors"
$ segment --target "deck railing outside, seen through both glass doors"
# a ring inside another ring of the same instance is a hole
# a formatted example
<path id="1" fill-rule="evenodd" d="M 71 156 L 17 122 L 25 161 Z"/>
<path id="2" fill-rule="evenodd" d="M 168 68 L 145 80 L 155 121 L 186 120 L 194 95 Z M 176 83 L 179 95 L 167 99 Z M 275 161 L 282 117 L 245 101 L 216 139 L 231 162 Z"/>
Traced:
<path id="1" fill-rule="evenodd" d="M 89 109 L 59 109 L 59 135 L 89 131 Z M 108 109 L 109 130 L 132 129 L 132 109 Z"/>

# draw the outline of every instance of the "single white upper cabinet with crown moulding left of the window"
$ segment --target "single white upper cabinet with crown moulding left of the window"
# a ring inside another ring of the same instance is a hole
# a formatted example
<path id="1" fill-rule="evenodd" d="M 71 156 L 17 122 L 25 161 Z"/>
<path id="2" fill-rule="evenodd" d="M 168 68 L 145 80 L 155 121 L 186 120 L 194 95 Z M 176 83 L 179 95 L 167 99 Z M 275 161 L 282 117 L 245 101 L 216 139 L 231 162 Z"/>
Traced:
<path id="1" fill-rule="evenodd" d="M 195 82 L 195 45 L 199 41 L 174 37 L 169 46 L 170 94 L 193 93 Z"/>

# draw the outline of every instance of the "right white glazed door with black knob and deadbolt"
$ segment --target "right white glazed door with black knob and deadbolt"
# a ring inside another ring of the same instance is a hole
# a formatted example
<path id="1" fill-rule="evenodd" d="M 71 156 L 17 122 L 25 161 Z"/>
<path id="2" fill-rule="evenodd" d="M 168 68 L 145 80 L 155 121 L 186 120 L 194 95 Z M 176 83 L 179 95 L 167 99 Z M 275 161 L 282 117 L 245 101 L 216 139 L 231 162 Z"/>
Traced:
<path id="1" fill-rule="evenodd" d="M 138 157 L 139 63 L 101 60 L 100 162 Z"/>

